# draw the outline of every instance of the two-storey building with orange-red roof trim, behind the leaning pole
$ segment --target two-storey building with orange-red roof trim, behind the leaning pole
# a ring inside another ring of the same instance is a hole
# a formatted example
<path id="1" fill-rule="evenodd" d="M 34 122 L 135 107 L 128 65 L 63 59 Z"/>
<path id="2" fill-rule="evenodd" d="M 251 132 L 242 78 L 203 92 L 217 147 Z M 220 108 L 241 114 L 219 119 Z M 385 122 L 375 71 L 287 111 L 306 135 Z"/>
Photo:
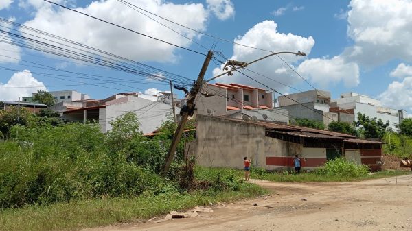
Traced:
<path id="1" fill-rule="evenodd" d="M 198 114 L 241 118 L 256 116 L 288 123 L 288 111 L 273 108 L 273 93 L 262 88 L 242 84 L 204 84 L 196 100 L 195 116 Z"/>

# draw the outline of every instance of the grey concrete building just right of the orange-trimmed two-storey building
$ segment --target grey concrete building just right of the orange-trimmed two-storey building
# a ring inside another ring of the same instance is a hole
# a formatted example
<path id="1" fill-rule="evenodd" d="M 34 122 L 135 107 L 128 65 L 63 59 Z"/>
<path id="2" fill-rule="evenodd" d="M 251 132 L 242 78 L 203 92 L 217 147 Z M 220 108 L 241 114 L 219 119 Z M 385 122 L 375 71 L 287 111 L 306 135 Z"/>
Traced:
<path id="1" fill-rule="evenodd" d="M 308 90 L 278 97 L 279 108 L 289 111 L 290 120 L 310 119 L 328 125 L 338 121 L 338 113 L 330 112 L 330 92 Z"/>

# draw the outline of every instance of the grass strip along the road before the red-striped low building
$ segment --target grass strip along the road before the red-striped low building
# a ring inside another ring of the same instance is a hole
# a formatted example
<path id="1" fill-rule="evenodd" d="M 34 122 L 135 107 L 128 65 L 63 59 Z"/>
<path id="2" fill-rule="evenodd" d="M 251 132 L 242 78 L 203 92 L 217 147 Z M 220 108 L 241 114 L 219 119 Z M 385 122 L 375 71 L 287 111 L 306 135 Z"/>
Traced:
<path id="1" fill-rule="evenodd" d="M 274 182 L 354 182 L 361 180 L 371 180 L 377 178 L 388 178 L 396 175 L 411 174 L 411 171 L 380 171 L 377 173 L 370 173 L 365 176 L 337 176 L 337 175 L 319 175 L 317 173 L 253 173 L 251 178 L 260 180 L 270 180 Z"/>

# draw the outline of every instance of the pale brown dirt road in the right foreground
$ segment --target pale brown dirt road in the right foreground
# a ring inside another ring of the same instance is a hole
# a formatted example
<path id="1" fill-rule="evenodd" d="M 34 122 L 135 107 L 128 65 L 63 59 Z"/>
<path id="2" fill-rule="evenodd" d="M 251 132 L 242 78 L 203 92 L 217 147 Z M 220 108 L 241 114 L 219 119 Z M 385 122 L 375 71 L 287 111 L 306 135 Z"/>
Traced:
<path id="1" fill-rule="evenodd" d="M 412 175 L 352 183 L 257 184 L 273 195 L 214 206 L 214 212 L 201 217 L 93 231 L 412 230 Z"/>

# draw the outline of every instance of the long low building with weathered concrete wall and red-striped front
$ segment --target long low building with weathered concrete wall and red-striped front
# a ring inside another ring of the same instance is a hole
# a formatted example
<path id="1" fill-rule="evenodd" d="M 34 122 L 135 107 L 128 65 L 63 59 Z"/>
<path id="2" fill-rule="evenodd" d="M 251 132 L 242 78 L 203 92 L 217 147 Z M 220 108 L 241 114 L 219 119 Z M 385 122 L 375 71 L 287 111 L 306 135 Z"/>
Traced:
<path id="1" fill-rule="evenodd" d="M 345 156 L 380 171 L 382 143 L 366 141 L 339 132 L 227 117 L 198 115 L 196 140 L 186 144 L 186 153 L 206 167 L 243 168 L 243 157 L 266 170 L 292 170 L 293 158 L 301 158 L 302 170 L 322 166 L 326 160 Z"/>

